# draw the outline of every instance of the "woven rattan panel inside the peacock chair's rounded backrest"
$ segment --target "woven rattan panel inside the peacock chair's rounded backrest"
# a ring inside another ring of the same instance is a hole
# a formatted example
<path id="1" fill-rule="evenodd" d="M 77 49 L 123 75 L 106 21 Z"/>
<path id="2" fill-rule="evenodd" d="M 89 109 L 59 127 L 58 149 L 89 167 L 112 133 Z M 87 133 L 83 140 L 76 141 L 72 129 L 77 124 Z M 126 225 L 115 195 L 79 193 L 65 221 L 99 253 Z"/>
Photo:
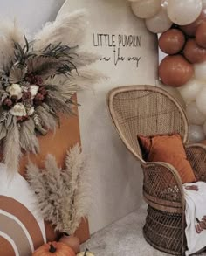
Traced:
<path id="1" fill-rule="evenodd" d="M 137 134 L 185 135 L 185 120 L 179 108 L 165 94 L 155 90 L 118 93 L 113 98 L 113 109 L 120 132 L 139 156 L 141 149 L 136 142 Z"/>

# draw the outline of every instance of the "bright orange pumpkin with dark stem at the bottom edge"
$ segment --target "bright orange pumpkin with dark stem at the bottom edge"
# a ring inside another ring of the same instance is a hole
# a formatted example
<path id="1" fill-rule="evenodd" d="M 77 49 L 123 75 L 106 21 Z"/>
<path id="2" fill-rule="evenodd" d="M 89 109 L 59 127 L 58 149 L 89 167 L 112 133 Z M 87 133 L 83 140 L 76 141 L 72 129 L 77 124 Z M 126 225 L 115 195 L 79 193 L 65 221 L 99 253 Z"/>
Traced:
<path id="1" fill-rule="evenodd" d="M 74 251 L 70 246 L 61 242 L 49 242 L 40 246 L 32 256 L 75 256 Z"/>

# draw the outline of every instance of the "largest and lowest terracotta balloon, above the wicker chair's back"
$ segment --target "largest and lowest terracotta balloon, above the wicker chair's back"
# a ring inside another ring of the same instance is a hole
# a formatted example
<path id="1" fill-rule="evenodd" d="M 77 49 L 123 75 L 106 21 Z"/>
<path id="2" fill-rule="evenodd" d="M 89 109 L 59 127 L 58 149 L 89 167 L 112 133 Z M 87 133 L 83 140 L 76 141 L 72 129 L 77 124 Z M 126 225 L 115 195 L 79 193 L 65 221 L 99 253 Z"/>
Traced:
<path id="1" fill-rule="evenodd" d="M 161 60 L 159 76 L 167 86 L 180 87 L 194 74 L 194 68 L 182 55 L 167 56 Z"/>

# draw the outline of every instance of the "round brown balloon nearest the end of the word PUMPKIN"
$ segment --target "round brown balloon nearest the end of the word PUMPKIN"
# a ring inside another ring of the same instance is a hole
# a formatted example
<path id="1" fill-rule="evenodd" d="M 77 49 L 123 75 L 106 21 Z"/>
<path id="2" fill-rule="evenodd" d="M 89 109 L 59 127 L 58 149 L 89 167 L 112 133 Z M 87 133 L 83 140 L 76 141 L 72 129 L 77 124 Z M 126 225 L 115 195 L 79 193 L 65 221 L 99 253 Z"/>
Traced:
<path id="1" fill-rule="evenodd" d="M 182 50 L 185 43 L 185 37 L 182 31 L 170 29 L 161 34 L 159 46 L 162 52 L 176 54 Z"/>

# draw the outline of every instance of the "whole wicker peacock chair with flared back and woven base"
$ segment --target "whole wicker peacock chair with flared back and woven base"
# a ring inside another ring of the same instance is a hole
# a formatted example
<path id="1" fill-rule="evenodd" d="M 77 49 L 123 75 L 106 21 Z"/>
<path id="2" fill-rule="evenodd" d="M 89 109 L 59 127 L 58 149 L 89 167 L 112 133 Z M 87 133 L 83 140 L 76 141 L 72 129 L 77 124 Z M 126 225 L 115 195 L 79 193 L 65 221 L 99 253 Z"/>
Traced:
<path id="1" fill-rule="evenodd" d="M 184 110 L 159 87 L 114 88 L 108 93 L 107 103 L 121 140 L 140 161 L 144 172 L 143 197 L 148 203 L 148 215 L 143 227 L 145 239 L 163 252 L 184 255 L 187 244 L 181 178 L 168 163 L 145 162 L 137 135 L 179 133 L 196 178 L 205 182 L 206 147 L 202 144 L 187 144 L 189 123 Z"/>

